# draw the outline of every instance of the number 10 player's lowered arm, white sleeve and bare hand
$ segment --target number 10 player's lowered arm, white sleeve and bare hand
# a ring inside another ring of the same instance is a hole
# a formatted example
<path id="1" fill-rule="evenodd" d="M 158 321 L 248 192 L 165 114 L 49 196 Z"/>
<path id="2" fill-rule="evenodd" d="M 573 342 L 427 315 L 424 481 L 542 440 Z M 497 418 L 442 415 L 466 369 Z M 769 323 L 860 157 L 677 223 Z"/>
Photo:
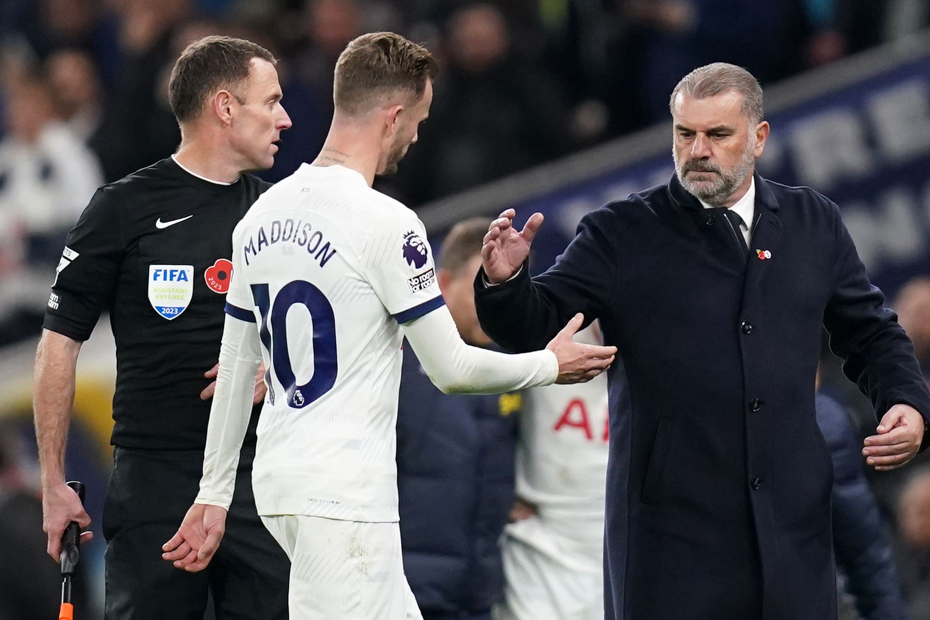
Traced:
<path id="1" fill-rule="evenodd" d="M 233 502 L 239 450 L 252 412 L 255 374 L 260 362 L 255 323 L 227 315 L 219 347 L 217 387 L 206 427 L 200 493 L 178 533 L 162 546 L 162 558 L 185 571 L 205 568 L 219 547 L 226 510 Z"/>

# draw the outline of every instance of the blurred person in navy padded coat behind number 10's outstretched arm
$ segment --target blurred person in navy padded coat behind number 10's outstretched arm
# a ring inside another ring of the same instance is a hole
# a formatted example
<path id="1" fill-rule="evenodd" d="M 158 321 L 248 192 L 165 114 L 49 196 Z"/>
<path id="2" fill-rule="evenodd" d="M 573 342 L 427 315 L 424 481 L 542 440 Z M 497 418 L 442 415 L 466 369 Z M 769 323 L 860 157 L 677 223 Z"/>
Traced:
<path id="1" fill-rule="evenodd" d="M 485 218 L 453 227 L 436 273 L 459 335 L 476 347 L 492 346 L 472 293 L 486 231 Z M 520 394 L 444 394 L 405 347 L 399 403 L 397 487 L 407 582 L 425 620 L 490 620 L 491 606 L 503 598 L 498 538 L 513 502 Z"/>

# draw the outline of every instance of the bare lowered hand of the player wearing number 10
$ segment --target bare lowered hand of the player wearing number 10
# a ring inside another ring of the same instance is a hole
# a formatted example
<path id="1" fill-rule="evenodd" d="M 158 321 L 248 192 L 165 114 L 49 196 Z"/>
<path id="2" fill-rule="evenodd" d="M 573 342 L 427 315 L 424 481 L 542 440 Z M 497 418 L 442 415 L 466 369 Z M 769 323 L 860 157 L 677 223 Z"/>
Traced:
<path id="1" fill-rule="evenodd" d="M 194 504 L 184 515 L 177 534 L 162 545 L 162 559 L 188 573 L 202 571 L 213 559 L 225 532 L 225 508 Z"/>

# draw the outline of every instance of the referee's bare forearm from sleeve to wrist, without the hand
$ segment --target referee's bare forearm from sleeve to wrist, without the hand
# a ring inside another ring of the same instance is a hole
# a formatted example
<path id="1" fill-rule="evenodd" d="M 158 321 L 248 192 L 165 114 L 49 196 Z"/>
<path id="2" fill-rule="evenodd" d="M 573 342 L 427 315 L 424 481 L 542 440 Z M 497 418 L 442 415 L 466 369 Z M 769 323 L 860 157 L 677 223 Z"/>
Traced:
<path id="1" fill-rule="evenodd" d="M 80 342 L 46 329 L 35 353 L 33 416 L 43 488 L 64 482 L 64 450 L 80 350 Z"/>

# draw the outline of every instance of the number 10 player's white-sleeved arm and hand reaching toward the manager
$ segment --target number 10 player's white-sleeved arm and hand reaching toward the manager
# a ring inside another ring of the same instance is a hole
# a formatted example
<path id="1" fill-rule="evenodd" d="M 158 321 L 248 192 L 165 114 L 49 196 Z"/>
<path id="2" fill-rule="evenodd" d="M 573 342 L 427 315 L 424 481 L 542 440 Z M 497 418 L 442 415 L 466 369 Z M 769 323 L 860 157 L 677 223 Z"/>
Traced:
<path id="1" fill-rule="evenodd" d="M 604 372 L 617 348 L 572 340 L 582 321 L 580 314 L 572 318 L 545 350 L 518 355 L 465 344 L 445 306 L 405 323 L 404 334 L 437 388 L 447 394 L 496 394 L 553 382 L 579 383 Z"/>

